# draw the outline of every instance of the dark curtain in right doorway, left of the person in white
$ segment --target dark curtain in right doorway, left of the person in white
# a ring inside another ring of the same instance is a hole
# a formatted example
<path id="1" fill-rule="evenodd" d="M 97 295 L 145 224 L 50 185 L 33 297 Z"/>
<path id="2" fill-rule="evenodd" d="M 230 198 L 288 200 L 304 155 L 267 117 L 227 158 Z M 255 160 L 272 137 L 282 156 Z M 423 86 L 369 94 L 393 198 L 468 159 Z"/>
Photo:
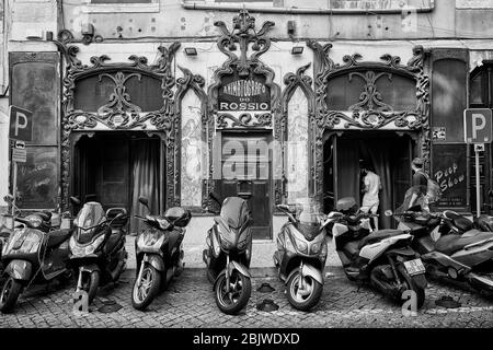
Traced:
<path id="1" fill-rule="evenodd" d="M 353 197 L 359 205 L 359 150 L 356 140 L 337 139 L 337 200 Z"/>

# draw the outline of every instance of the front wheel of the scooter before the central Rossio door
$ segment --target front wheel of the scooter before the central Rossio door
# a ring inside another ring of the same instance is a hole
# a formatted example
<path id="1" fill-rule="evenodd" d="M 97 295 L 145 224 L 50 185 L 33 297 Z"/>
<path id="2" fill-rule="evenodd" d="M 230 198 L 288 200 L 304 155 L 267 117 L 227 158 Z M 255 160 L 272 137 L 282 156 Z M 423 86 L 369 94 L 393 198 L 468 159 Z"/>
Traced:
<path id="1" fill-rule="evenodd" d="M 226 272 L 221 272 L 216 282 L 216 304 L 221 312 L 233 315 L 246 306 L 252 293 L 252 281 L 246 276 L 233 270 L 227 289 Z"/>

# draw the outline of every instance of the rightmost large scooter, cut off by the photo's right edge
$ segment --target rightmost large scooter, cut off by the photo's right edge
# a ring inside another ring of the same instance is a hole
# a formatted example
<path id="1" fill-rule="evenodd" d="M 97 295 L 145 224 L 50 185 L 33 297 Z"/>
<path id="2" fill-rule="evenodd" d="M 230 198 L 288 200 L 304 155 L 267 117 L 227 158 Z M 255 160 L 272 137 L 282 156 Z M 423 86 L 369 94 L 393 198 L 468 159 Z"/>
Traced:
<path id="1" fill-rule="evenodd" d="M 458 213 L 423 212 L 413 207 L 400 213 L 387 211 L 398 229 L 414 235 L 412 246 L 432 278 L 465 284 L 480 293 L 493 292 L 493 233 L 473 228 Z"/>

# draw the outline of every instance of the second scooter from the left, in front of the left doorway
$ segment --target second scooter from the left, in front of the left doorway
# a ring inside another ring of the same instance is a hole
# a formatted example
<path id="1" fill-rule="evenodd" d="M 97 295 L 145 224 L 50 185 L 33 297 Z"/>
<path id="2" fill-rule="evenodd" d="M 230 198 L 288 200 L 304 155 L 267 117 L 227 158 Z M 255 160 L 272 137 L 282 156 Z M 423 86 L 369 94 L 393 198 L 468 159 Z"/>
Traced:
<path id="1" fill-rule="evenodd" d="M 70 199 L 80 205 L 78 198 Z M 100 284 L 117 282 L 125 270 L 128 254 L 124 228 L 127 220 L 124 208 L 110 208 L 104 212 L 96 201 L 85 202 L 73 220 L 70 266 L 78 271 L 76 292 L 85 291 L 89 304 Z"/>

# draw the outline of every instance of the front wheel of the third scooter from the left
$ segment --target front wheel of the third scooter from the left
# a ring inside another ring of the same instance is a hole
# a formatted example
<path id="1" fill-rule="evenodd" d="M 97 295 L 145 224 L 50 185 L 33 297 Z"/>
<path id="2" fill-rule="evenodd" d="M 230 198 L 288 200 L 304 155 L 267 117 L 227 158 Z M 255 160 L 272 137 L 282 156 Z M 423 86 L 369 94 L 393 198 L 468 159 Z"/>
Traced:
<path id="1" fill-rule="evenodd" d="M 140 280 L 137 279 L 131 291 L 131 305 L 137 310 L 144 311 L 158 295 L 161 285 L 161 273 L 152 265 L 146 264 L 142 269 L 142 277 Z"/>

